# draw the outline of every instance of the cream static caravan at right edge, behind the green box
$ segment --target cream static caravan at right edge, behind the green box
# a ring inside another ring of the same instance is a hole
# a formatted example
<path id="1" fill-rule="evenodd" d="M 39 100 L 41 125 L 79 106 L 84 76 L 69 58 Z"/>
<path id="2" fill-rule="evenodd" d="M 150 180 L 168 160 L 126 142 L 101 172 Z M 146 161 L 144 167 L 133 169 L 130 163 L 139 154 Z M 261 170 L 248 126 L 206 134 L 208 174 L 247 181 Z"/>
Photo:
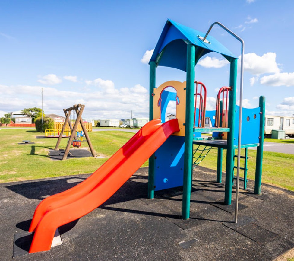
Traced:
<path id="1" fill-rule="evenodd" d="M 294 136 L 294 117 L 265 115 L 264 134 L 272 130 L 284 130 L 288 136 Z"/>

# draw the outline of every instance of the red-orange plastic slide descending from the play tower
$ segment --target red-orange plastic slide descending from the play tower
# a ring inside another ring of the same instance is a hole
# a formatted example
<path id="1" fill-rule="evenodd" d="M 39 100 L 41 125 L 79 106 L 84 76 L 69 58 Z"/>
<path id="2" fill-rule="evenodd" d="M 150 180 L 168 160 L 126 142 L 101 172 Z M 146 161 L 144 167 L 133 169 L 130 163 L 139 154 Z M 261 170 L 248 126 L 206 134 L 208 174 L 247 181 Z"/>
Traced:
<path id="1" fill-rule="evenodd" d="M 160 119 L 150 121 L 86 180 L 41 201 L 29 229 L 34 232 L 29 253 L 49 250 L 58 227 L 103 204 L 170 135 L 178 131 L 177 119 L 162 125 Z"/>

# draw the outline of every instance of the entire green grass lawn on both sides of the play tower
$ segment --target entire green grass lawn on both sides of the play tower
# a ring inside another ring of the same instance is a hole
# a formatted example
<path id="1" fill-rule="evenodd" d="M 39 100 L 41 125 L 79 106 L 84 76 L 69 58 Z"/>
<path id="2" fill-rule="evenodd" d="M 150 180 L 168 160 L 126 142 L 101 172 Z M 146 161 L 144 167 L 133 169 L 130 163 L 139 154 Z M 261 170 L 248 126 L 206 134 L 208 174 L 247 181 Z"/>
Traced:
<path id="1" fill-rule="evenodd" d="M 37 139 L 42 135 L 32 129 L 0 130 L 0 183 L 58 177 L 80 173 L 93 173 L 112 154 L 124 145 L 133 135 L 132 132 L 106 131 L 90 132 L 89 136 L 97 155 L 105 158 L 77 158 L 65 161 L 52 161 L 48 150 L 54 149 L 56 138 Z M 35 144 L 18 145 L 22 140 Z M 65 149 L 68 138 L 63 138 L 59 146 Z M 288 140 L 289 141 L 289 140 Z M 87 147 L 87 142 L 82 142 Z M 242 151 L 242 154 L 244 152 Z M 226 151 L 223 151 L 223 171 L 225 171 Z M 254 179 L 256 151 L 248 150 L 248 178 Z M 243 162 L 241 161 L 241 166 Z M 147 162 L 143 164 L 147 166 Z M 217 149 L 211 149 L 200 166 L 216 170 Z M 294 155 L 264 151 L 262 182 L 294 191 Z M 241 171 L 242 176 L 242 171 Z"/>

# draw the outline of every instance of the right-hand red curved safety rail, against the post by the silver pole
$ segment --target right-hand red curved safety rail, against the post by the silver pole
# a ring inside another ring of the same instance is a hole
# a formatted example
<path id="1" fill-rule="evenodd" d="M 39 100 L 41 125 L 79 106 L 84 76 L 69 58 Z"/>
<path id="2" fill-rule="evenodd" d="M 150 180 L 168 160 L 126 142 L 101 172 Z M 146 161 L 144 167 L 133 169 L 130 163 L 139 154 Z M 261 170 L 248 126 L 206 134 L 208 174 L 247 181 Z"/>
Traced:
<path id="1" fill-rule="evenodd" d="M 215 126 L 216 127 L 227 127 L 228 126 L 228 100 L 229 100 L 229 91 L 231 91 L 231 90 L 232 90 L 231 87 L 223 86 L 222 88 L 220 88 L 220 90 L 217 94 L 217 103 L 216 103 L 216 109 L 215 109 L 215 117 L 216 117 Z M 220 111 L 221 99 L 223 101 L 222 111 Z M 226 106 L 226 110 L 225 110 L 225 106 Z M 222 119 L 221 124 L 220 124 L 220 119 Z"/>

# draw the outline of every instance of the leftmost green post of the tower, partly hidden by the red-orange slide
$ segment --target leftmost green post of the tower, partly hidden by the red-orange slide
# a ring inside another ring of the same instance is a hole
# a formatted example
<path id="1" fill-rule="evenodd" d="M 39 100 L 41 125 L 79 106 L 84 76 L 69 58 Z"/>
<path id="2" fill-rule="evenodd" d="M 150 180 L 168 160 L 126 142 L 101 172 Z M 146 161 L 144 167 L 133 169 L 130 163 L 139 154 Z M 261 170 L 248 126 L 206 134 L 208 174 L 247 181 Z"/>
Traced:
<path id="1" fill-rule="evenodd" d="M 153 120 L 153 90 L 156 85 L 156 62 L 150 62 L 149 81 L 149 120 Z M 148 166 L 148 199 L 154 198 L 154 178 L 155 178 L 155 156 L 151 155 Z"/>

